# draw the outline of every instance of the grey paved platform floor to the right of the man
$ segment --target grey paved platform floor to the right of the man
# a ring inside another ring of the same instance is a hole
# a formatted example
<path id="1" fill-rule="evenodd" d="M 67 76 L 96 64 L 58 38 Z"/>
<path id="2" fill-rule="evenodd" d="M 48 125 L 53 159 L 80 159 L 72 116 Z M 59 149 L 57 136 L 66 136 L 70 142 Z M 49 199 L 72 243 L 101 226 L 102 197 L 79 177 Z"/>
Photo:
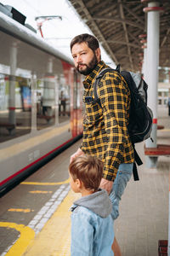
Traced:
<path id="1" fill-rule="evenodd" d="M 170 117 L 167 108 L 159 108 L 157 143 L 170 145 Z M 144 145 L 136 146 L 144 162 Z M 133 178 L 122 196 L 120 217 L 116 220 L 116 238 L 122 256 L 156 256 L 158 240 L 168 236 L 168 192 L 170 158 L 158 157 L 156 169 L 139 166 L 139 181 Z"/>

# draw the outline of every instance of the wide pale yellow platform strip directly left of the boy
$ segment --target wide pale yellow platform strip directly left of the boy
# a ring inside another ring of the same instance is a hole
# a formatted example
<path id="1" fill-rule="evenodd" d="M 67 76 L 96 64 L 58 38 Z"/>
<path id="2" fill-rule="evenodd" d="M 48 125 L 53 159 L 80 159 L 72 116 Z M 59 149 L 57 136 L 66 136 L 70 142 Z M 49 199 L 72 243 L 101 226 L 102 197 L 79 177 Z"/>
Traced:
<path id="1" fill-rule="evenodd" d="M 24 256 L 71 255 L 71 212 L 69 208 L 78 197 L 79 194 L 69 192 L 31 246 L 27 247 Z"/>

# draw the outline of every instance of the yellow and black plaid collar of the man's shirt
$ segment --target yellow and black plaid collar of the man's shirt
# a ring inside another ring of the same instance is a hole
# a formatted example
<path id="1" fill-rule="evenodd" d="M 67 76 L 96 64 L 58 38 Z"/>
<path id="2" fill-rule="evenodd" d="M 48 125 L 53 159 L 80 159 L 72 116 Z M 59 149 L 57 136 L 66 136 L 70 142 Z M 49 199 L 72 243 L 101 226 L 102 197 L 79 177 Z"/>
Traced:
<path id="1" fill-rule="evenodd" d="M 84 88 L 88 88 L 89 85 L 91 85 L 93 83 L 93 80 L 95 79 L 95 77 L 99 74 L 99 72 L 101 71 L 101 69 L 108 67 L 104 61 L 99 61 L 98 65 L 94 68 L 94 70 L 89 73 L 85 80 L 83 81 L 83 85 Z"/>

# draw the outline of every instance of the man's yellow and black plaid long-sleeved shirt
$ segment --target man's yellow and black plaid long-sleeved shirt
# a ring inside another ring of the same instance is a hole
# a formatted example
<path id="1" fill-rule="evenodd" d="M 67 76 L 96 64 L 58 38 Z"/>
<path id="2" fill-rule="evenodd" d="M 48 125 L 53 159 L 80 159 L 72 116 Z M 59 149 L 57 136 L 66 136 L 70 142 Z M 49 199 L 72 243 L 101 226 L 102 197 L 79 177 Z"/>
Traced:
<path id="1" fill-rule="evenodd" d="M 81 149 L 104 161 L 103 177 L 114 181 L 121 163 L 133 163 L 133 147 L 127 124 L 129 119 L 130 91 L 125 80 L 116 72 L 107 72 L 99 82 L 98 96 L 94 102 L 94 81 L 99 72 L 108 67 L 100 61 L 83 82 L 85 115 Z M 86 102 L 92 100 L 91 102 Z"/>

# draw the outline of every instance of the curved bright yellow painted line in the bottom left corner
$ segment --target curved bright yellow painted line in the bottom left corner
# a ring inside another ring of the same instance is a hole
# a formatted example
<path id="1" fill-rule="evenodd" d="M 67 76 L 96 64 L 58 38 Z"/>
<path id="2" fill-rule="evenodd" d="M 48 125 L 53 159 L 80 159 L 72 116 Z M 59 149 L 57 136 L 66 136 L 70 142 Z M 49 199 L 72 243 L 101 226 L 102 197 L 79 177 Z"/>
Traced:
<path id="1" fill-rule="evenodd" d="M 34 230 L 31 230 L 30 227 L 26 227 L 23 224 L 0 222 L 0 227 L 6 227 L 20 232 L 20 238 L 14 243 L 14 246 L 9 249 L 8 253 L 5 254 L 6 256 L 21 256 L 35 236 Z"/>

